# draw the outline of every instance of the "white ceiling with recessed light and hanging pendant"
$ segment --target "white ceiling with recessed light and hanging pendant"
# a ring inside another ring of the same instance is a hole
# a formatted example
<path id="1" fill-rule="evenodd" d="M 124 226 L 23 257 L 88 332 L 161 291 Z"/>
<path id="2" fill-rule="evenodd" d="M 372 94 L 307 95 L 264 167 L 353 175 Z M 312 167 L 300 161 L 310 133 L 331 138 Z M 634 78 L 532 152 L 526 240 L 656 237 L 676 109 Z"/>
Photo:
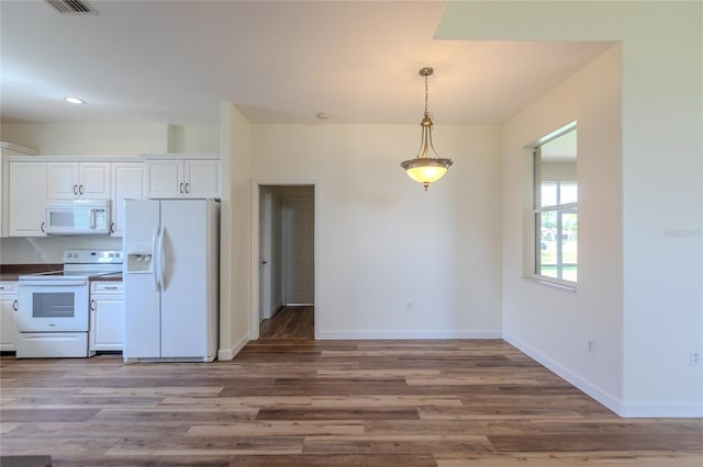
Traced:
<path id="1" fill-rule="evenodd" d="M 3 122 L 504 122 L 607 43 L 435 41 L 444 1 L 2 0 Z M 76 106 L 63 101 L 75 95 Z"/>

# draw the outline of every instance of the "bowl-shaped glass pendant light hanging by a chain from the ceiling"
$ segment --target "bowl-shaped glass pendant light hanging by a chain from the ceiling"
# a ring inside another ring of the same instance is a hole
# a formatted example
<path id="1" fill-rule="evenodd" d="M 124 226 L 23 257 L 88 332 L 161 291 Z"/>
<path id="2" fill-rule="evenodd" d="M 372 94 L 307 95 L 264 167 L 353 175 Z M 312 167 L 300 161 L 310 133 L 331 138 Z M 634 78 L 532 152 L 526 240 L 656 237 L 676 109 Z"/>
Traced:
<path id="1" fill-rule="evenodd" d="M 422 127 L 422 138 L 420 139 L 420 150 L 414 159 L 401 162 L 401 167 L 405 169 L 408 175 L 414 181 L 422 183 L 427 191 L 429 183 L 442 179 L 447 169 L 453 164 L 451 159 L 444 159 L 437 155 L 432 143 L 432 116 L 427 111 L 427 77 L 434 72 L 434 69 L 426 67 L 420 70 L 420 76 L 425 78 L 425 114 L 420 122 Z"/>

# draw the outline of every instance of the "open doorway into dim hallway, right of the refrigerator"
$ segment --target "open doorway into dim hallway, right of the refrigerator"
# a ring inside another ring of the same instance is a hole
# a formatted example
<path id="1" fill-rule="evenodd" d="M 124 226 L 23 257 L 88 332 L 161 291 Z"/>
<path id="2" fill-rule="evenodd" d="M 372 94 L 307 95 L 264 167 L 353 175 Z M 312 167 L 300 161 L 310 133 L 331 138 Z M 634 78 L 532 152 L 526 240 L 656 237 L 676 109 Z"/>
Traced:
<path id="1" fill-rule="evenodd" d="M 257 238 L 258 337 L 314 339 L 314 185 L 259 185 Z"/>

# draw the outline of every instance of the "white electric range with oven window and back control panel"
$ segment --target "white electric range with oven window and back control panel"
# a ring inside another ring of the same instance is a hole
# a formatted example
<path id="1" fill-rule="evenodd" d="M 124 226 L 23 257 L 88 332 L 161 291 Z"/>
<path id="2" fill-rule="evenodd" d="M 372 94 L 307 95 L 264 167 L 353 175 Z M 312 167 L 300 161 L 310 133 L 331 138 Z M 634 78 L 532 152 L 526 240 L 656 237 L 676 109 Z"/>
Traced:
<path id="1" fill-rule="evenodd" d="M 18 358 L 87 357 L 91 278 L 122 272 L 122 251 L 67 250 L 64 269 L 18 280 Z"/>

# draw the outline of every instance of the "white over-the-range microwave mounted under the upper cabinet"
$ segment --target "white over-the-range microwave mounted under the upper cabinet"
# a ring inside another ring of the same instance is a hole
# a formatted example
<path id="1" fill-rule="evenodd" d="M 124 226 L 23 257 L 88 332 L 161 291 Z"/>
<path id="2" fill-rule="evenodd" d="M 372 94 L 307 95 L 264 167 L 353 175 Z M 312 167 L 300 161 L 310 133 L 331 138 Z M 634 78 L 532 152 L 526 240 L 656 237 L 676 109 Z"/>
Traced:
<path id="1" fill-rule="evenodd" d="M 110 229 L 110 200 L 55 200 L 44 205 L 46 235 L 104 235 Z"/>

